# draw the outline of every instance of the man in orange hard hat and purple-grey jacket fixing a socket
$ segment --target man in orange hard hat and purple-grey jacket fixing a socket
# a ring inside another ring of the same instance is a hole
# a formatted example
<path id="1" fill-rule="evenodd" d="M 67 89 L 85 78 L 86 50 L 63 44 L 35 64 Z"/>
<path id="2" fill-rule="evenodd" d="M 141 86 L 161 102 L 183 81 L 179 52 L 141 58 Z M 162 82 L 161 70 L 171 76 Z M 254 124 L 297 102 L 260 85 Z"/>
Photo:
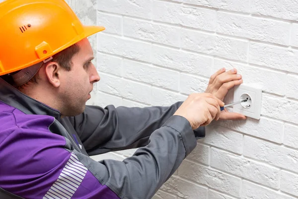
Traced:
<path id="1" fill-rule="evenodd" d="M 64 0 L 0 3 L 0 198 L 149 199 L 220 111 L 236 70 L 169 107 L 85 106 L 100 80 L 83 26 Z M 124 161 L 89 155 L 141 147 Z"/>

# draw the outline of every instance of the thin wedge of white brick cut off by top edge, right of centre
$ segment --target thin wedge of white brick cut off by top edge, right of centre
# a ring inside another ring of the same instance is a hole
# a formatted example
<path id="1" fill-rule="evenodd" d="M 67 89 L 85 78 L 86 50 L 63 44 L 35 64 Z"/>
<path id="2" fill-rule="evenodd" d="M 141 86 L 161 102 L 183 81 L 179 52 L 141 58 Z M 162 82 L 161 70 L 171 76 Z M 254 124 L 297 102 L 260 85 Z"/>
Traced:
<path id="1" fill-rule="evenodd" d="M 239 12 L 249 12 L 249 0 L 184 0 L 184 3 Z"/>

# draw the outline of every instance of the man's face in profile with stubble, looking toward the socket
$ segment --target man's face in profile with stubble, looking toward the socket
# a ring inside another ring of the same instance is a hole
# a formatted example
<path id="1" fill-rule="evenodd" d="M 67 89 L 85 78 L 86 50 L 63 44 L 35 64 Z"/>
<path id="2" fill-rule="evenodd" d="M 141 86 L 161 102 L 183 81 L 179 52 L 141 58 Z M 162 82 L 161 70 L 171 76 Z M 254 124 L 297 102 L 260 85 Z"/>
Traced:
<path id="1" fill-rule="evenodd" d="M 63 71 L 61 78 L 61 100 L 63 103 L 61 113 L 64 116 L 75 116 L 84 111 L 85 103 L 91 98 L 90 92 L 93 83 L 98 82 L 100 77 L 91 60 L 93 50 L 88 39 L 78 43 L 79 51 L 72 58 L 71 71 Z"/>

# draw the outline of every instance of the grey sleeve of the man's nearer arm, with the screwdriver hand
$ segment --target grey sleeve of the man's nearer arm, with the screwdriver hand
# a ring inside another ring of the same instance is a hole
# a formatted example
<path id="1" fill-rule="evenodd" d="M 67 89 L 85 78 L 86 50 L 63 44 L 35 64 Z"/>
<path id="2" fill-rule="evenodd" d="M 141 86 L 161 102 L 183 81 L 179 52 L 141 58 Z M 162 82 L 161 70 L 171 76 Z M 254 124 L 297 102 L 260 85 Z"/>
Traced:
<path id="1" fill-rule="evenodd" d="M 74 151 L 78 160 L 121 199 L 151 199 L 175 172 L 197 142 L 190 123 L 174 115 L 149 137 L 149 144 L 139 148 L 124 161 L 96 162 Z"/>

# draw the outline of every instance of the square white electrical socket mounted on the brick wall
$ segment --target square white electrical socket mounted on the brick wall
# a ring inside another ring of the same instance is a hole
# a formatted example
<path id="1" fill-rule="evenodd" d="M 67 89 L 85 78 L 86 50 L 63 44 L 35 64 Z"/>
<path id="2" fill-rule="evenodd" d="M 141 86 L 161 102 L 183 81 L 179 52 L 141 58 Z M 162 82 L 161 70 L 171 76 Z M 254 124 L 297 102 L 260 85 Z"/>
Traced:
<path id="1" fill-rule="evenodd" d="M 262 89 L 241 84 L 234 88 L 234 102 L 247 100 L 233 105 L 233 111 L 255 119 L 261 118 Z"/>

